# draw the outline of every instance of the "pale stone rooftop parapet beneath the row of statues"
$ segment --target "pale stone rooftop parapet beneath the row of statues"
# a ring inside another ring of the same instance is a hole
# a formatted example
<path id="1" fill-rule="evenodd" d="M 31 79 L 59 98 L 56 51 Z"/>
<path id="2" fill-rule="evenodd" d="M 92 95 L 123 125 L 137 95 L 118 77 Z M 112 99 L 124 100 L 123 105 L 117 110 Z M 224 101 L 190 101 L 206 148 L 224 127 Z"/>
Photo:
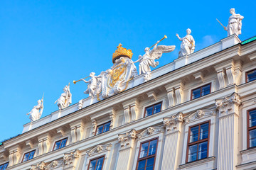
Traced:
<path id="1" fill-rule="evenodd" d="M 174 71 L 175 69 L 178 69 L 180 67 L 185 66 L 186 64 L 191 64 L 192 62 L 196 62 L 198 60 L 203 59 L 204 57 L 208 57 L 209 55 L 213 55 L 216 52 L 220 52 L 222 50 L 227 49 L 228 47 L 232 47 L 233 45 L 237 45 L 238 43 L 241 43 L 241 40 L 238 38 L 237 35 L 233 34 L 230 35 L 227 38 L 224 38 L 220 40 L 219 42 L 210 45 L 206 48 L 203 48 L 202 50 L 199 50 L 197 52 L 194 52 L 191 55 L 185 55 L 183 57 L 178 57 L 174 62 L 171 62 L 169 64 L 164 65 L 163 67 L 159 67 L 158 69 L 154 69 L 151 71 L 151 79 L 155 79 L 156 77 L 160 77 L 163 74 L 166 74 L 168 72 Z M 133 81 L 129 81 L 127 89 L 131 89 L 134 86 L 138 86 L 139 84 L 143 84 L 144 77 L 143 75 L 139 75 L 137 77 L 134 77 Z M 102 96 L 100 96 L 100 99 L 103 99 Z M 93 103 L 97 103 L 97 97 L 88 97 L 82 99 L 83 106 L 82 108 L 85 108 L 87 106 L 92 105 Z M 55 111 L 51 113 L 50 115 L 47 115 L 46 117 L 43 117 L 39 120 L 36 120 L 31 123 L 26 123 L 23 125 L 23 132 L 28 132 L 29 130 L 32 130 L 34 128 L 38 128 L 41 125 L 45 125 L 46 123 L 50 123 L 53 120 L 56 120 L 58 118 L 61 118 L 65 115 L 68 115 L 70 113 L 73 113 L 75 111 L 78 111 L 78 103 L 75 103 L 73 106 L 69 106 L 68 108 L 64 108 L 62 111 Z"/>

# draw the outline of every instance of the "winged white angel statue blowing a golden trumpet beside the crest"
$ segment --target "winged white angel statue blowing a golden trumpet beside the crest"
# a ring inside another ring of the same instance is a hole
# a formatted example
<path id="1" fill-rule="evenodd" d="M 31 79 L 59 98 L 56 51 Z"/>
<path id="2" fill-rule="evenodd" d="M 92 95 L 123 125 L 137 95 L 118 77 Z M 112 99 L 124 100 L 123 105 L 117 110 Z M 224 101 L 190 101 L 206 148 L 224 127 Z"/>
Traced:
<path id="1" fill-rule="evenodd" d="M 158 45 L 159 42 L 160 40 L 156 42 L 152 50 L 146 47 L 145 54 L 139 55 L 139 60 L 134 62 L 139 62 L 139 74 L 144 74 L 144 82 L 151 78 L 150 67 L 156 67 L 159 64 L 155 60 L 158 60 L 163 53 L 172 52 L 175 49 L 175 45 Z"/>

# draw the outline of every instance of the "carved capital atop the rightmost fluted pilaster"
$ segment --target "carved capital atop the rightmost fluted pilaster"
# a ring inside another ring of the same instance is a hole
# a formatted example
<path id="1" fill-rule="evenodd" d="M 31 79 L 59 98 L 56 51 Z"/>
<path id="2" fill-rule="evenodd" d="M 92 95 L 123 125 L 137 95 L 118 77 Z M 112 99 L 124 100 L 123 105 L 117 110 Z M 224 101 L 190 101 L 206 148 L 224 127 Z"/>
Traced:
<path id="1" fill-rule="evenodd" d="M 238 108 L 240 105 L 240 96 L 237 93 L 215 100 L 215 107 L 218 109 L 219 116 L 228 115 L 230 113 L 238 114 Z"/>

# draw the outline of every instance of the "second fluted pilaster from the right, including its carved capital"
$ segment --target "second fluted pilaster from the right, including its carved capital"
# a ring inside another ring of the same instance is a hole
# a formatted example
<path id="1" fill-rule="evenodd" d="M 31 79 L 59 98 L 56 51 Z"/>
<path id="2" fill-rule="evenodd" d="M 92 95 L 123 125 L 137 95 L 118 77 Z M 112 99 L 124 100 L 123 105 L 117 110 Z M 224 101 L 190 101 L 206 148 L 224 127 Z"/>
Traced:
<path id="1" fill-rule="evenodd" d="M 164 153 L 161 169 L 178 168 L 178 148 L 181 137 L 181 124 L 183 114 L 178 113 L 169 118 L 164 118 L 164 127 L 166 128 Z"/>

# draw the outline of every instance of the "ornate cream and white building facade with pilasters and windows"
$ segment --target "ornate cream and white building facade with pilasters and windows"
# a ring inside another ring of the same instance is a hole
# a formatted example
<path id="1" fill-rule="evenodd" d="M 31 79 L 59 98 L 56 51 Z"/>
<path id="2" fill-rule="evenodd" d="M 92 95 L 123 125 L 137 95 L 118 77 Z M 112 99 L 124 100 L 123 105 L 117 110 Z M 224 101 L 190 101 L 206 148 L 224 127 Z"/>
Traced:
<path id="1" fill-rule="evenodd" d="M 255 38 L 230 35 L 120 88 L 24 125 L 0 145 L 0 170 L 255 169 Z"/>

